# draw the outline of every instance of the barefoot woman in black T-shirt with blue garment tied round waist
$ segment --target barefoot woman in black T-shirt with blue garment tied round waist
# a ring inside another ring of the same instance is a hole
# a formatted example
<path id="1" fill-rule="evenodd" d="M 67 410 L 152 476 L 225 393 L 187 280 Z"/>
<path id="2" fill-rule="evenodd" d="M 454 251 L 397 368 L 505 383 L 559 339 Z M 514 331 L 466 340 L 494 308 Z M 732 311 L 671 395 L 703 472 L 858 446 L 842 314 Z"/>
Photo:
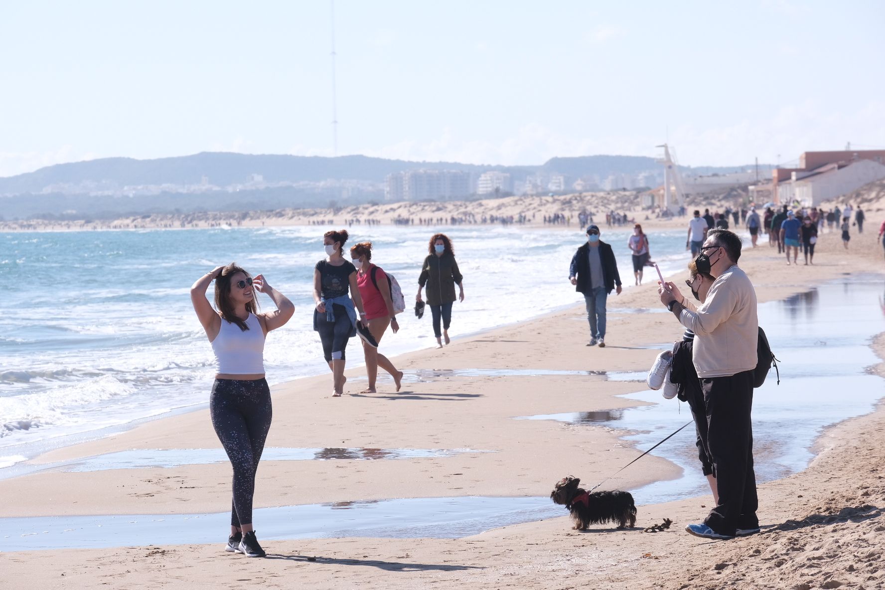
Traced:
<path id="1" fill-rule="evenodd" d="M 350 260 L 342 257 L 347 238 L 344 229 L 323 234 L 327 258 L 320 260 L 313 269 L 313 301 L 317 306 L 313 310 L 313 329 L 319 332 L 323 356 L 332 370 L 333 397 L 340 397 L 344 392 L 347 380 L 344 377 L 344 349 L 361 327 L 357 323 L 357 310 L 360 318 L 366 318 L 357 287 L 357 269 Z M 349 292 L 353 299 L 350 299 Z"/>

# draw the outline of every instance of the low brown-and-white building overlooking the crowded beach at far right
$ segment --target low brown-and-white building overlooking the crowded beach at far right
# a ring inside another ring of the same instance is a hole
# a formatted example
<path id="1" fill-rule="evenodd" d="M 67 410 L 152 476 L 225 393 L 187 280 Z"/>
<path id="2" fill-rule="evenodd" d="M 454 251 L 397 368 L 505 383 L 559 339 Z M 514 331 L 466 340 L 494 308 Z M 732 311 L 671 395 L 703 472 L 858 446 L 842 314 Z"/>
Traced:
<path id="1" fill-rule="evenodd" d="M 773 201 L 806 207 L 885 179 L 885 149 L 806 151 L 796 168 L 775 168 Z"/>

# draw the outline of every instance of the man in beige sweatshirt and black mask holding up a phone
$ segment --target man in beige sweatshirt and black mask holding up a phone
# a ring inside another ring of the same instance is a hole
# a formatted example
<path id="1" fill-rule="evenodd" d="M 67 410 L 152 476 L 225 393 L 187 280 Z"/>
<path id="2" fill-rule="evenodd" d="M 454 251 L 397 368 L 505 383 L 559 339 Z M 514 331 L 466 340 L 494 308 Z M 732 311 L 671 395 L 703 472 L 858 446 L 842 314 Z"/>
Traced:
<path id="1" fill-rule="evenodd" d="M 701 379 L 707 415 L 707 440 L 719 504 L 703 524 L 685 530 L 707 539 L 731 539 L 759 532 L 753 471 L 753 369 L 758 361 L 756 291 L 738 268 L 741 238 L 711 230 L 695 259 L 698 271 L 715 278 L 700 307 L 668 282 L 658 287 L 661 303 L 696 334 L 692 360 Z"/>

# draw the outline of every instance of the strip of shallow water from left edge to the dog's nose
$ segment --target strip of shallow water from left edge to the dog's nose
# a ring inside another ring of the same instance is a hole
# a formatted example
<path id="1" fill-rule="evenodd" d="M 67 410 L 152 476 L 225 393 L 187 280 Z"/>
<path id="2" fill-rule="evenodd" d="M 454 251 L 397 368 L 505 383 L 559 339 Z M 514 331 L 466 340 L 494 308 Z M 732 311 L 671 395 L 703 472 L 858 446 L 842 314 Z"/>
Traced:
<path id="1" fill-rule="evenodd" d="M 563 515 L 549 497 L 400 498 L 255 510 L 261 542 L 386 537 L 458 539 Z M 0 518 L 0 552 L 214 543 L 230 513 Z"/>

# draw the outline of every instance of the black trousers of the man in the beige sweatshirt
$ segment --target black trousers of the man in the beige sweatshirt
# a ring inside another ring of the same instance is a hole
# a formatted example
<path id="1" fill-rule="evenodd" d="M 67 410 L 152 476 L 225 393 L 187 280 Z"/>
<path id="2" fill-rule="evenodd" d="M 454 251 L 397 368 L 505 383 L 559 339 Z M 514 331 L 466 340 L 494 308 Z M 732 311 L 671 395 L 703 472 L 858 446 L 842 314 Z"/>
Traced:
<path id="1" fill-rule="evenodd" d="M 735 529 L 759 525 L 750 423 L 752 372 L 702 379 L 701 389 L 707 410 L 706 447 L 720 496 L 719 505 L 710 511 L 704 524 L 716 533 L 734 535 Z"/>

